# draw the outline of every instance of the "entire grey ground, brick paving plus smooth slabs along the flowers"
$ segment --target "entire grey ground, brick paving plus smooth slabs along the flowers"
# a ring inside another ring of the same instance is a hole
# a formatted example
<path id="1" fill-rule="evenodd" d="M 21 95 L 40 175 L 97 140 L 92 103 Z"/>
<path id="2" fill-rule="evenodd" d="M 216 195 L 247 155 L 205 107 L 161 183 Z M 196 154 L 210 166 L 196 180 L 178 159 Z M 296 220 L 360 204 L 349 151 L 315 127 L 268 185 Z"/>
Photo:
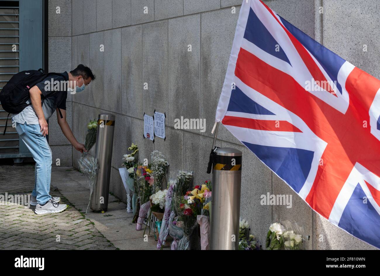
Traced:
<path id="1" fill-rule="evenodd" d="M 0 166 L 0 195 L 30 194 L 33 184 L 34 166 Z M 90 190 L 76 169 L 52 168 L 51 195 L 61 197 L 68 208 L 37 215 L 34 206 L 0 204 L 0 249 L 156 249 L 153 233 L 147 229 L 144 239 L 125 203 L 111 194 L 105 213 L 89 208 L 85 214 Z"/>

